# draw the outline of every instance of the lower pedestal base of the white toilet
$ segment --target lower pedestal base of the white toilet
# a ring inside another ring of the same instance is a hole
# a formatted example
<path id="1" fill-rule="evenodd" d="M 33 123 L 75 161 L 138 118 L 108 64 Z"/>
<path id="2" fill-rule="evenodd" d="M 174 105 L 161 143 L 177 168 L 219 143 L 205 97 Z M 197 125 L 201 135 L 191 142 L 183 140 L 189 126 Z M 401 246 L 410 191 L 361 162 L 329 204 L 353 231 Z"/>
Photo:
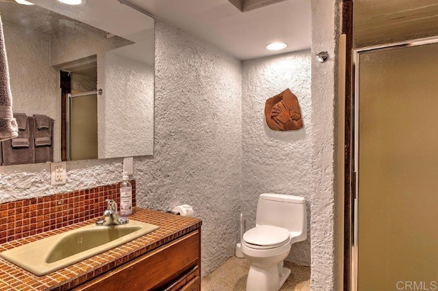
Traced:
<path id="1" fill-rule="evenodd" d="M 279 270 L 281 270 L 279 272 Z M 283 262 L 268 268 L 251 265 L 246 281 L 247 291 L 278 291 L 289 277 L 289 268 L 283 268 Z"/>

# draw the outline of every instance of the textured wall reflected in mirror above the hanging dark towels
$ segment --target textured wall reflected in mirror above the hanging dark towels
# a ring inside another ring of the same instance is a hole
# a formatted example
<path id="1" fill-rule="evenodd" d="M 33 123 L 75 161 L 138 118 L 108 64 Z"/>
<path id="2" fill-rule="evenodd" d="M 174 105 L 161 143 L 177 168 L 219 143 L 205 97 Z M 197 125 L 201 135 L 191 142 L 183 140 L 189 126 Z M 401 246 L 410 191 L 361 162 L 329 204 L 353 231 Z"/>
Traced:
<path id="1" fill-rule="evenodd" d="M 3 24 L 14 112 L 45 114 L 55 120 L 53 156 L 60 159 L 59 72 L 50 65 L 50 36 Z"/>

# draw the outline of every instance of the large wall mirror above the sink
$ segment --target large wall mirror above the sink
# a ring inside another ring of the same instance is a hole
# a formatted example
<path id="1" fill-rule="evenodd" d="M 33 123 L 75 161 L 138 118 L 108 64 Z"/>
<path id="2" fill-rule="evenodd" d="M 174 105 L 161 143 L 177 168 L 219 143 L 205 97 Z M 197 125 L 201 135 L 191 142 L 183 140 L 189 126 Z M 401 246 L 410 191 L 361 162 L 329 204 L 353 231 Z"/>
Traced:
<path id="1" fill-rule="evenodd" d="M 109 25 L 92 17 L 108 3 L 40 2 L 0 1 L 14 113 L 55 120 L 53 161 L 153 154 L 153 18 L 115 1 L 138 25 Z"/>

